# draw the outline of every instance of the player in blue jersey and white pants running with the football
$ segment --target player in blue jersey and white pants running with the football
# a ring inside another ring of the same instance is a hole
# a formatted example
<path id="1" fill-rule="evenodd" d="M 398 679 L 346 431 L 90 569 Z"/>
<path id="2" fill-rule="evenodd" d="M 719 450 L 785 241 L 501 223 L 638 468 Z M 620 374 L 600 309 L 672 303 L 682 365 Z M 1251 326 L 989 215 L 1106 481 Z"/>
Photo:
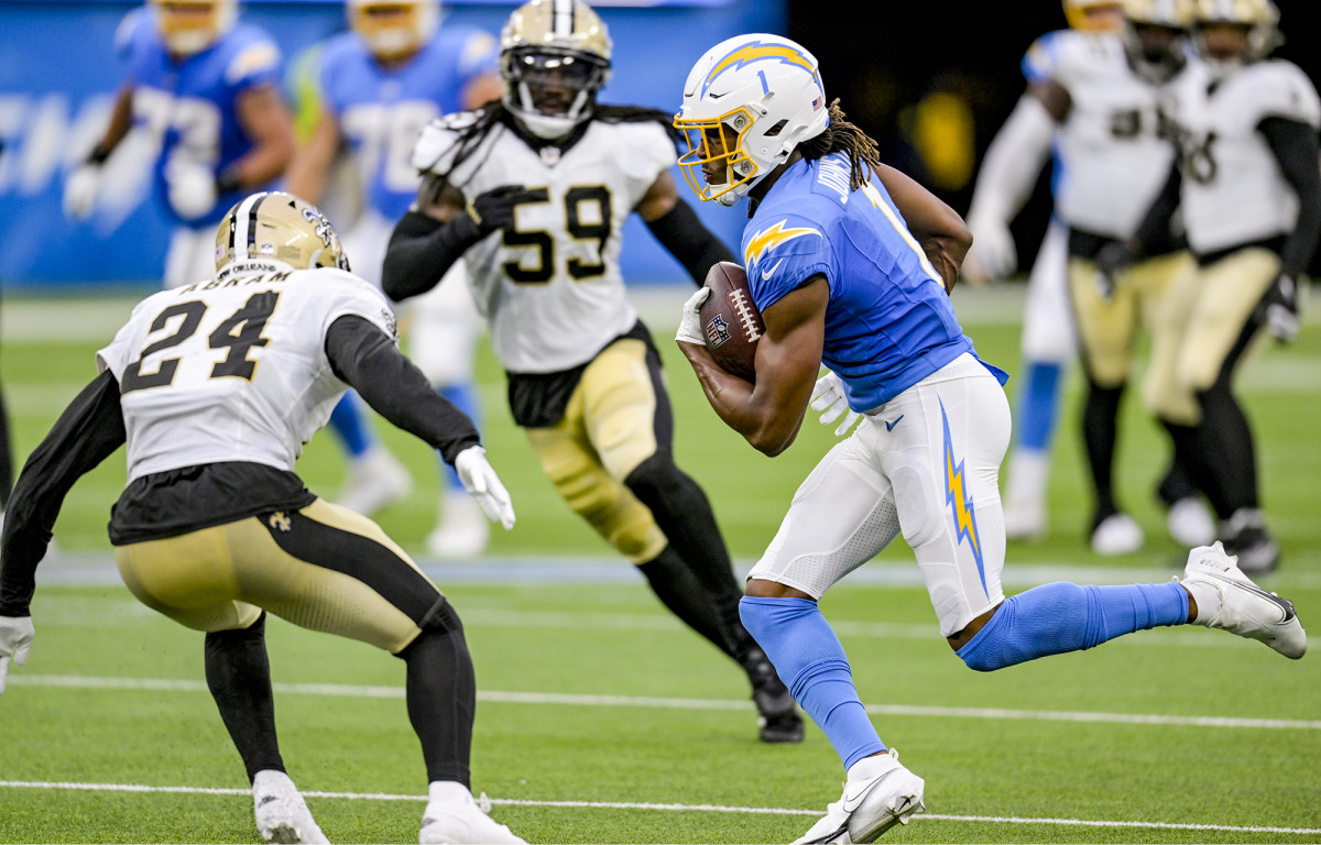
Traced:
<path id="1" fill-rule="evenodd" d="M 707 51 L 675 125 L 697 195 L 749 201 L 742 257 L 766 325 L 746 382 L 705 347 L 709 290 L 686 304 L 676 339 L 712 408 L 769 456 L 794 441 L 810 403 L 867 417 L 798 489 L 740 605 L 848 772 L 843 797 L 799 842 L 871 842 L 925 809 L 923 780 L 881 742 L 816 605 L 901 533 L 941 634 L 978 671 L 1184 623 L 1303 656 L 1292 603 L 1254 585 L 1219 544 L 1193 549 L 1182 581 L 1054 582 L 1007 598 L 1007 376 L 978 359 L 947 297 L 972 243 L 967 226 L 878 161 L 838 100 L 827 106 L 816 59 L 786 38 L 738 36 Z M 823 364 L 831 372 L 818 380 Z"/>

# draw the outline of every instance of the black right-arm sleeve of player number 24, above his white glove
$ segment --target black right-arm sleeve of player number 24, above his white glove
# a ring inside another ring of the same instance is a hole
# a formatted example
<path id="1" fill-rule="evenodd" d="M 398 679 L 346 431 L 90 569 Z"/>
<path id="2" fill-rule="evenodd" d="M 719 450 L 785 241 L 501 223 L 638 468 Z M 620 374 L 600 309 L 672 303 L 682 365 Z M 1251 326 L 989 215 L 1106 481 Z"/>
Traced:
<path id="1" fill-rule="evenodd" d="M 448 399 L 379 326 L 353 314 L 326 331 L 326 356 L 334 374 L 398 428 L 439 449 L 445 461 L 480 445 L 477 426 Z"/>

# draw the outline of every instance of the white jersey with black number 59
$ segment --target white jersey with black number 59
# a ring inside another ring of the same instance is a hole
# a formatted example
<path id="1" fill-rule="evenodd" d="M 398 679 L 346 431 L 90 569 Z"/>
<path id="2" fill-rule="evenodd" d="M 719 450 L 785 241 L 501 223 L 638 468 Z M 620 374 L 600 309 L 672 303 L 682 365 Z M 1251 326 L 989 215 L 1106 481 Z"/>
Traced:
<path id="1" fill-rule="evenodd" d="M 538 199 L 517 209 L 513 230 L 464 254 L 477 309 L 510 372 L 559 372 L 587 363 L 638 320 L 620 273 L 624 223 L 676 160 L 655 121 L 592 120 L 568 149 L 543 154 L 495 124 L 457 168 L 456 140 L 472 115 L 433 121 L 413 164 L 472 201 L 502 185 Z"/>

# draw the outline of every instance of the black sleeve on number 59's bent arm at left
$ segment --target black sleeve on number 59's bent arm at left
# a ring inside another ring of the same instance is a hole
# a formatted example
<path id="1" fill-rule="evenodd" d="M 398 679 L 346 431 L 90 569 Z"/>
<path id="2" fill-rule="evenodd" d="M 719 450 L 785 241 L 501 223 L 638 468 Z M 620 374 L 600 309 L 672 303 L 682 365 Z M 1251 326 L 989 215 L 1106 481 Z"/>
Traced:
<path id="1" fill-rule="evenodd" d="M 468 214 L 441 223 L 420 211 L 408 211 L 390 235 L 380 287 L 396 302 L 427 293 L 481 239 L 477 222 Z"/>

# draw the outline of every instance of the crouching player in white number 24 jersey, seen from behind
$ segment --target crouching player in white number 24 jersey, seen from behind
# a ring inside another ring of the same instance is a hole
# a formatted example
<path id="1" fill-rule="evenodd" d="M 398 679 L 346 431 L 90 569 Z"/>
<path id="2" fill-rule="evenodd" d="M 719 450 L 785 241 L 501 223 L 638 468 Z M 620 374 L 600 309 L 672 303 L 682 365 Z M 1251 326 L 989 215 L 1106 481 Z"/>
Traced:
<path id="1" fill-rule="evenodd" d="M 285 193 L 222 219 L 217 273 L 143 300 L 98 375 L 28 458 L 0 539 L 0 692 L 33 639 L 33 574 L 73 483 L 127 445 L 110 539 L 128 589 L 206 632 L 206 681 L 252 782 L 266 841 L 325 842 L 276 741 L 266 614 L 406 664 L 429 780 L 421 842 L 522 842 L 469 790 L 476 688 L 458 615 L 366 516 L 293 465 L 349 386 L 440 449 L 490 519 L 514 508 L 477 429 L 399 353 L 395 318 L 334 228 Z"/>

